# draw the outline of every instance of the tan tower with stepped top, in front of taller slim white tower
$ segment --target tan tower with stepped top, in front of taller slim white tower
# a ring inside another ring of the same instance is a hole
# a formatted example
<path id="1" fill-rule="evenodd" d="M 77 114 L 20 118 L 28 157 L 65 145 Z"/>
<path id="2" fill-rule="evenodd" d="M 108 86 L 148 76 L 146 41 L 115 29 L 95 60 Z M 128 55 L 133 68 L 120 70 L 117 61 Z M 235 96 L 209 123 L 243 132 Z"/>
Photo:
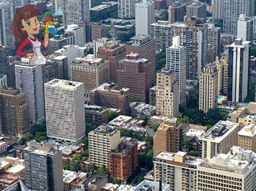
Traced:
<path id="1" fill-rule="evenodd" d="M 156 73 L 156 114 L 177 117 L 179 89 L 175 70 L 163 68 Z"/>

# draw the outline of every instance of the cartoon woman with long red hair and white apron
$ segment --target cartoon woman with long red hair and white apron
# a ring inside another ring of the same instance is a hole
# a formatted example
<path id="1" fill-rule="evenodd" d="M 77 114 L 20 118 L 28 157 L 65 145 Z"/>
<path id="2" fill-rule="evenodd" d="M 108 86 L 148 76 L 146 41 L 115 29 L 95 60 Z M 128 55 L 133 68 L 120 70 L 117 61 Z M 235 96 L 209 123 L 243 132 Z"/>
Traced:
<path id="1" fill-rule="evenodd" d="M 40 32 L 40 22 L 37 20 L 39 11 L 34 6 L 27 5 L 20 8 L 12 21 L 12 34 L 19 41 L 19 44 L 14 42 L 17 47 L 17 55 L 24 57 L 32 57 L 30 65 L 45 65 L 46 58 L 41 52 L 42 47 L 48 47 L 49 30 L 48 24 L 53 24 L 52 21 L 45 23 L 44 41 L 37 39 L 34 34 Z M 22 52 L 22 50 L 29 44 L 32 47 L 33 53 Z"/>

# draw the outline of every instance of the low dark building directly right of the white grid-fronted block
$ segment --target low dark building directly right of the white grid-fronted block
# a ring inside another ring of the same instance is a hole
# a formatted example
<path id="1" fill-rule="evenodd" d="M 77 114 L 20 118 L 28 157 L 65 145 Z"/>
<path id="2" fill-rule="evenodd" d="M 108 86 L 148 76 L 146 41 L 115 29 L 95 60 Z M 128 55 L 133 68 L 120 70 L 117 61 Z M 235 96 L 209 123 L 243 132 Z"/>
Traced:
<path id="1" fill-rule="evenodd" d="M 89 121 L 106 124 L 108 122 L 108 111 L 102 106 L 84 105 L 85 118 Z"/>

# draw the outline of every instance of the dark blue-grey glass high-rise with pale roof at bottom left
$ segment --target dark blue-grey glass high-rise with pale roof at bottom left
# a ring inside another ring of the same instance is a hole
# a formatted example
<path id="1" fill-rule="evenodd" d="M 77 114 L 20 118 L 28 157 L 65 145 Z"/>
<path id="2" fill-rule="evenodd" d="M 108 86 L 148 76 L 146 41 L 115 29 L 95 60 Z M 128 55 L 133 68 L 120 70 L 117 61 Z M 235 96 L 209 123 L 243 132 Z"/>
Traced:
<path id="1" fill-rule="evenodd" d="M 61 151 L 52 145 L 31 142 L 24 149 L 25 181 L 30 190 L 63 191 Z"/>

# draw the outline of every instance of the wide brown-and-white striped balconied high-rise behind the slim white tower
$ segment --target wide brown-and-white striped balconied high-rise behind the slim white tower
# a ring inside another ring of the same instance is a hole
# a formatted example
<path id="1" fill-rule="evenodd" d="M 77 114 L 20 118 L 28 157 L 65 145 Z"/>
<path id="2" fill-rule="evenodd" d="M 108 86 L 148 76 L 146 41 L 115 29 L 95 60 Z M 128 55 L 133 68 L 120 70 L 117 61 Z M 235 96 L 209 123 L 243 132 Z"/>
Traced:
<path id="1" fill-rule="evenodd" d="M 172 46 L 172 37 L 180 36 L 180 45 L 186 47 L 186 77 L 199 78 L 203 65 L 208 63 L 208 24 L 202 19 L 185 20 L 168 24 L 158 21 L 151 24 L 151 35 L 156 39 L 156 50 Z"/>

